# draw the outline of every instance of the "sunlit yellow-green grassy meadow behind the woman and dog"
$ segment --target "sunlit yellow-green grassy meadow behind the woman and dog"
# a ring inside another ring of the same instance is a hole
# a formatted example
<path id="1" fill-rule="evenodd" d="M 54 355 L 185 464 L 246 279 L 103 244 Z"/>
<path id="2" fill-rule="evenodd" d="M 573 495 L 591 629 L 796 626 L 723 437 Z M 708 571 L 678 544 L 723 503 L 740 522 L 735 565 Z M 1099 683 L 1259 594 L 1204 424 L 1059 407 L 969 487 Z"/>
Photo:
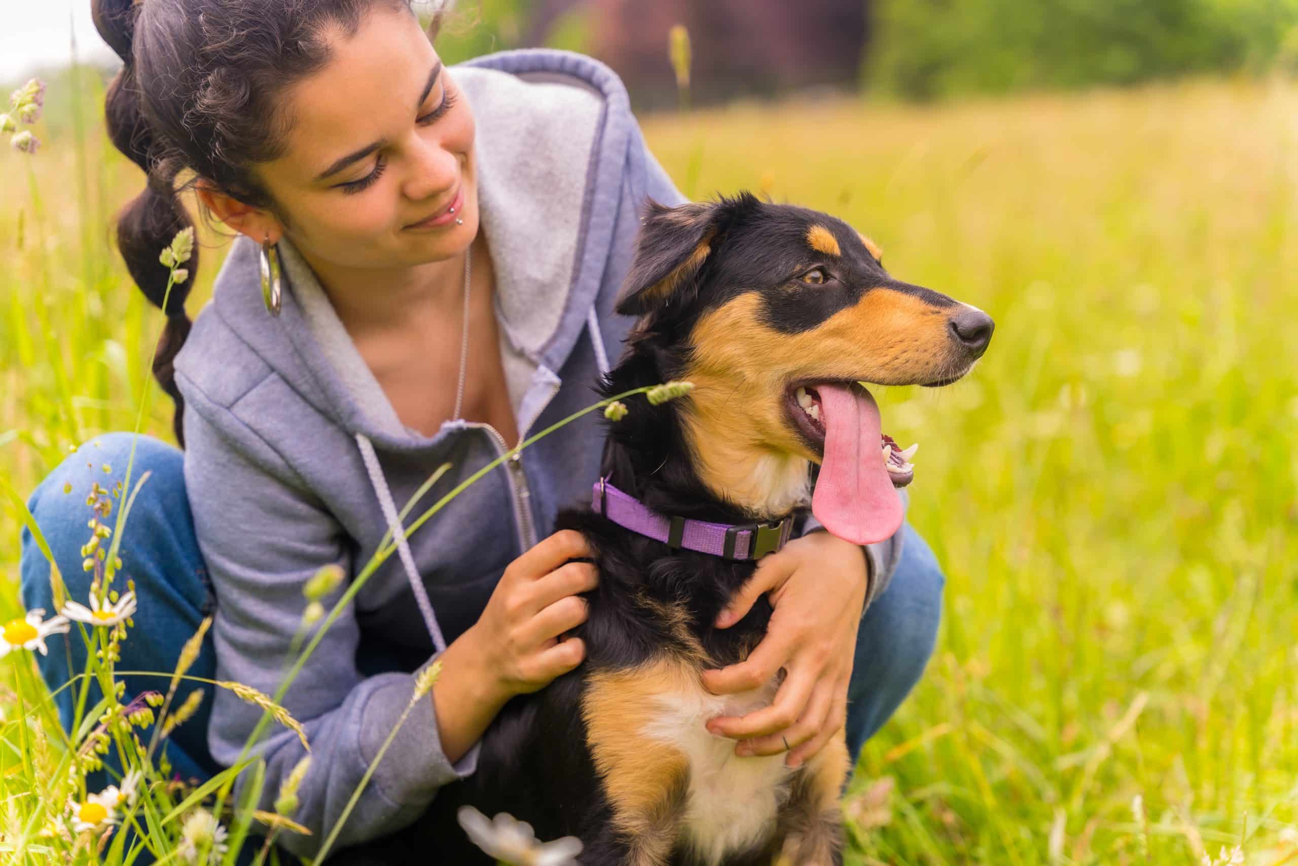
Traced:
<path id="1" fill-rule="evenodd" d="M 134 426 L 161 327 L 112 252 L 141 182 L 97 103 L 0 153 L 0 622 L 21 614 L 5 488 Z M 946 612 L 857 769 L 849 862 L 1298 863 L 1298 84 L 790 99 L 644 129 L 687 193 L 832 212 L 997 321 L 966 382 L 880 393 L 885 431 L 920 443 L 910 519 Z M 222 254 L 202 243 L 191 314 Z M 169 418 L 154 395 L 147 430 Z M 10 837 L 27 661 L 0 662 Z"/>

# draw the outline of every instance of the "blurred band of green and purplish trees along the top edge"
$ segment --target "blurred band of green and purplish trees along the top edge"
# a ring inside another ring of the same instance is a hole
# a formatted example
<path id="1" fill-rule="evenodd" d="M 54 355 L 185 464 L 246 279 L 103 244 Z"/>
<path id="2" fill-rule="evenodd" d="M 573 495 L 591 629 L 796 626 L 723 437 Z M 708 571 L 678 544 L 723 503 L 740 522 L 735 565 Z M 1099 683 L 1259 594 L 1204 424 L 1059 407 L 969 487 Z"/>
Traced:
<path id="1" fill-rule="evenodd" d="M 693 42 L 696 103 L 816 86 L 903 99 L 1298 65 L 1298 0 L 462 0 L 452 61 L 553 45 L 593 55 L 637 108 L 675 104 L 667 30 Z"/>

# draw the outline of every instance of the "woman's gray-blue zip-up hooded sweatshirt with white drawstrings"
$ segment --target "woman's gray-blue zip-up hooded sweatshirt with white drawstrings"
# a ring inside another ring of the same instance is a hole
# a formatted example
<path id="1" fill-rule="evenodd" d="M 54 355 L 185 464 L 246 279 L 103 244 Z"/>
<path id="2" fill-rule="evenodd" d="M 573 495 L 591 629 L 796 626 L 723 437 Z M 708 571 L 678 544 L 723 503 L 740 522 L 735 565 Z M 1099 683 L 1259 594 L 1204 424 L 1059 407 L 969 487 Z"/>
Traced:
<path id="1" fill-rule="evenodd" d="M 684 199 L 646 151 L 620 80 L 597 61 L 518 51 L 452 75 L 478 123 L 500 352 L 526 436 L 597 400 L 596 379 L 632 325 L 613 308 L 640 210 L 650 197 Z M 449 421 L 431 438 L 405 427 L 310 269 L 288 243 L 280 252 L 280 314 L 267 314 L 257 247 L 240 239 L 177 360 L 186 483 L 217 596 L 217 676 L 267 695 L 282 682 L 315 571 L 336 562 L 354 576 L 437 466 L 452 469 L 413 514 L 506 451 L 483 423 Z M 413 532 L 328 628 L 283 700 L 313 756 L 293 815 L 313 835 L 287 834 L 288 848 L 318 849 L 411 706 L 417 673 L 476 622 L 505 566 L 549 534 L 559 509 L 589 501 L 601 445 L 588 415 L 488 473 Z M 900 536 L 867 548 L 871 597 L 898 548 Z M 213 701 L 209 743 L 230 765 L 261 710 L 226 689 Z M 267 765 L 269 808 L 306 752 L 274 726 L 256 753 Z M 448 761 L 432 700 L 414 701 L 339 847 L 411 823 L 476 757 L 474 747 Z"/>

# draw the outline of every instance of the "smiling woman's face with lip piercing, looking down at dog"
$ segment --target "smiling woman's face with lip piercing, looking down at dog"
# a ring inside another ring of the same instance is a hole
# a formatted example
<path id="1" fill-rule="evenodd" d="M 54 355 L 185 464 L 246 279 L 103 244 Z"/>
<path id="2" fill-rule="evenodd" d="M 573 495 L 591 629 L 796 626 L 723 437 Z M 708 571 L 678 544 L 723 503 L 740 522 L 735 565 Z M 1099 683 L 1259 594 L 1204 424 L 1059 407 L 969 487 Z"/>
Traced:
<path id="1" fill-rule="evenodd" d="M 474 116 L 413 14 L 375 8 L 284 99 L 284 156 L 257 177 L 309 261 L 409 267 L 469 247 Z"/>

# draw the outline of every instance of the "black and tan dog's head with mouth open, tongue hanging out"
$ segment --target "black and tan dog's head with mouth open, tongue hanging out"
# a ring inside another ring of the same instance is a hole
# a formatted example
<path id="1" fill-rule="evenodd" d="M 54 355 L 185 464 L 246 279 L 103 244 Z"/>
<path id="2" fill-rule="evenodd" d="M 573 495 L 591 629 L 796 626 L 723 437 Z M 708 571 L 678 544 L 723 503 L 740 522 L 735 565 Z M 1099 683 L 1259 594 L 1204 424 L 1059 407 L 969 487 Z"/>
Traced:
<path id="1" fill-rule="evenodd" d="M 694 383 L 681 406 L 698 478 L 759 514 L 806 497 L 864 544 L 892 535 L 911 453 L 883 435 L 858 383 L 944 386 L 983 356 L 993 322 L 946 295 L 893 279 L 841 219 L 752 195 L 650 204 L 618 312 L 636 341 L 678 358 Z"/>

